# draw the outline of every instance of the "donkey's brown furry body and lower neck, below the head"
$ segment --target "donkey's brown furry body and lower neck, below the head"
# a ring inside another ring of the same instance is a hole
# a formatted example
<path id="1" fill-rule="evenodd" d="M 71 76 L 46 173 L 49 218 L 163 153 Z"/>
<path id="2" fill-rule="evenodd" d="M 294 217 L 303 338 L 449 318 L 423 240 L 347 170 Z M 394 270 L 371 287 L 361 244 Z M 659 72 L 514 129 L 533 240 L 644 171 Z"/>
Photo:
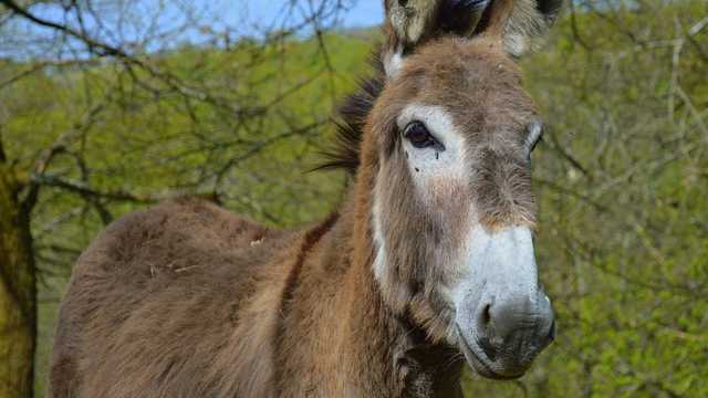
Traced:
<path id="1" fill-rule="evenodd" d="M 333 220 L 278 232 L 192 201 L 121 219 L 74 269 L 50 396 L 448 396 L 459 358 L 385 308 L 340 248 L 354 213 Z"/>

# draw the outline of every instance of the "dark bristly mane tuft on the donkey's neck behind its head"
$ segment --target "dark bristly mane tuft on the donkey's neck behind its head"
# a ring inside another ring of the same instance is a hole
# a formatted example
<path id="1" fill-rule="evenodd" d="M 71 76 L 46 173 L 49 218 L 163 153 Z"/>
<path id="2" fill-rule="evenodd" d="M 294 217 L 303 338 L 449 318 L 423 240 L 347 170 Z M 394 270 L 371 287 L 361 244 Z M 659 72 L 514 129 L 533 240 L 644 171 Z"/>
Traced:
<path id="1" fill-rule="evenodd" d="M 325 161 L 315 170 L 344 169 L 350 175 L 356 174 L 366 118 L 385 84 L 384 67 L 378 56 L 373 55 L 371 64 L 374 76 L 361 81 L 358 91 L 348 95 L 340 106 L 340 117 L 334 122 L 335 144 L 322 154 Z"/>

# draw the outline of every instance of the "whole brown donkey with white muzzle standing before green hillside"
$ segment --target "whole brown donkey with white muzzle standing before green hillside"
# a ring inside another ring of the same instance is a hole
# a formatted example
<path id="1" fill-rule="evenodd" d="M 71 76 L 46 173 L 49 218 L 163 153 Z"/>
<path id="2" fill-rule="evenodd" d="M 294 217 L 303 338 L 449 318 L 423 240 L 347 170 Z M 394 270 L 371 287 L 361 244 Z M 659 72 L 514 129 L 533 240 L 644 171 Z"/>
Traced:
<path id="1" fill-rule="evenodd" d="M 437 9 L 426 40 L 388 8 L 388 42 L 408 44 L 385 44 L 343 109 L 329 166 L 352 182 L 326 220 L 281 231 L 180 199 L 110 226 L 74 266 L 49 396 L 459 397 L 465 362 L 523 375 L 554 317 L 514 7 L 473 10 L 468 32 Z"/>

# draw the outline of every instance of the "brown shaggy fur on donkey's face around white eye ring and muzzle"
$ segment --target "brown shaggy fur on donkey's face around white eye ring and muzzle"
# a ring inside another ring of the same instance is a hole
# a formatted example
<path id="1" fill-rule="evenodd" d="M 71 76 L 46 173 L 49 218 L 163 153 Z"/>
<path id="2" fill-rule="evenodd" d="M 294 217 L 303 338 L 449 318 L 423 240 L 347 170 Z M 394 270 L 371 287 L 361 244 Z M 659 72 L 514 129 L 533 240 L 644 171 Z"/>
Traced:
<path id="1" fill-rule="evenodd" d="M 525 127 L 537 115 L 520 87 L 518 66 L 493 43 L 444 39 L 425 50 L 408 59 L 378 98 L 369 117 L 376 135 L 371 147 L 362 147 L 373 153 L 375 164 L 361 169 L 378 170 L 371 179 L 382 184 L 372 190 L 387 208 L 396 209 L 385 212 L 383 220 L 391 259 L 382 281 L 384 295 L 397 311 L 414 308 L 416 321 L 442 339 L 451 333 L 452 312 L 435 289 L 451 275 L 446 268 L 427 264 L 449 263 L 445 255 L 459 247 L 470 207 L 489 229 L 533 226 L 524 139 Z M 445 106 L 456 125 L 464 126 L 467 151 L 476 159 L 471 181 L 440 180 L 431 192 L 433 209 L 415 190 L 396 126 L 396 116 L 412 102 Z"/>

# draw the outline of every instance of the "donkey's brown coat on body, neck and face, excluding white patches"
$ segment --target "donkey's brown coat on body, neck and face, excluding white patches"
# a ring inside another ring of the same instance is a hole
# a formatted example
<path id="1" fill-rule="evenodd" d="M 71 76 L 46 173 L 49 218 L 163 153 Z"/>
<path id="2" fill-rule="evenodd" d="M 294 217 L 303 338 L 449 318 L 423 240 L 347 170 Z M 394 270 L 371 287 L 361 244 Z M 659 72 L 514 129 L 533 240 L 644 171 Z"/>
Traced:
<path id="1" fill-rule="evenodd" d="M 489 228 L 533 222 L 522 146 L 534 113 L 520 83 L 485 40 L 413 55 L 356 121 L 346 200 L 311 228 L 277 231 L 195 200 L 116 221 L 74 268 L 49 396 L 459 396 L 451 310 L 435 289 L 450 275 L 430 248 L 459 243 L 467 201 Z M 413 101 L 455 115 L 478 159 L 468 185 L 440 180 L 449 197 L 434 212 L 412 190 L 394 123 Z M 372 271 L 377 178 L 395 226 L 383 282 Z"/>

